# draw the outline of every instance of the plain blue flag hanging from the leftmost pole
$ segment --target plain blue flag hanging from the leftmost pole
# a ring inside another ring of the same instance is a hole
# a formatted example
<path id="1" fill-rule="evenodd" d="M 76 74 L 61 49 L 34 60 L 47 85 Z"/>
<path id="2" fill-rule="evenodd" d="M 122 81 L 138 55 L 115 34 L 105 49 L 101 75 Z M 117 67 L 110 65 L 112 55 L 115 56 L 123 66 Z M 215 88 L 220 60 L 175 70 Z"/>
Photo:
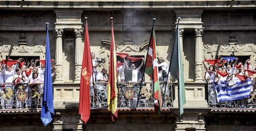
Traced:
<path id="1" fill-rule="evenodd" d="M 41 108 L 41 120 L 47 126 L 53 120 L 53 83 L 51 80 L 51 54 L 49 50 L 49 23 L 46 23 L 46 53 L 45 53 L 45 81 L 43 88 L 43 101 Z"/>

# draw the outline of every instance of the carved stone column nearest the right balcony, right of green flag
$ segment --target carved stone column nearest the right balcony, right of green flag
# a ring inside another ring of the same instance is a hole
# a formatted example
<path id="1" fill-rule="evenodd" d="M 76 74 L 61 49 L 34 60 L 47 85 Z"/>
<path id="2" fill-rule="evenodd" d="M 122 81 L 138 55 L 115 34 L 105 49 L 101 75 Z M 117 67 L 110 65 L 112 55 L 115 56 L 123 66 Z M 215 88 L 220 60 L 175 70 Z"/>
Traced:
<path id="1" fill-rule="evenodd" d="M 203 39 L 202 28 L 195 28 L 195 82 L 203 80 L 202 68 L 203 68 Z"/>

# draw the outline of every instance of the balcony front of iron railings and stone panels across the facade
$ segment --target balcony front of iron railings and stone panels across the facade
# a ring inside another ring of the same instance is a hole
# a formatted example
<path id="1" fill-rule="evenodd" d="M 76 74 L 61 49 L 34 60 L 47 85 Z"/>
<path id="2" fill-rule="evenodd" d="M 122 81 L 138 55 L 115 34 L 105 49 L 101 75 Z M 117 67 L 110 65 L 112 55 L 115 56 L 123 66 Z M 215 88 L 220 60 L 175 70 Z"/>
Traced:
<path id="1" fill-rule="evenodd" d="M 108 83 L 97 82 L 94 87 L 91 86 L 91 109 L 107 109 L 107 93 Z M 197 101 L 191 96 L 190 92 L 195 93 L 195 83 L 186 83 L 186 99 L 188 104 L 189 101 L 197 103 Z M 62 83 L 53 84 L 54 86 L 54 108 L 55 109 L 66 109 L 66 108 L 78 108 L 79 107 L 79 83 Z M 93 84 L 91 84 L 93 85 Z M 151 88 L 150 82 L 141 83 L 117 83 L 117 108 L 119 110 L 126 109 L 142 109 L 142 110 L 153 110 L 153 89 Z M 202 85 L 202 84 L 201 84 Z M 168 84 L 165 86 L 163 82 L 160 83 L 161 95 L 163 99 L 163 109 L 177 108 L 177 84 L 174 83 L 172 86 Z M 208 106 L 205 108 L 217 108 L 217 109 L 251 109 L 256 108 L 256 91 L 250 94 L 249 98 L 237 99 L 236 101 L 225 101 L 221 103 L 213 104 L 211 101 L 212 97 L 208 95 L 207 89 L 197 91 L 205 93 L 205 99 L 202 101 L 208 101 Z M 139 93 L 140 92 L 140 93 Z M 28 109 L 28 110 L 40 110 L 41 100 L 43 93 L 43 83 L 36 83 L 33 87 L 27 83 L 20 83 L 13 85 L 12 83 L 5 83 L 4 88 L 1 88 L 0 94 L 0 109 L 1 110 L 15 110 L 15 109 Z M 139 96 L 140 94 L 140 96 Z M 195 93 L 198 94 L 198 93 Z M 203 95 L 204 96 L 204 95 Z M 139 101 L 137 100 L 139 99 Z M 190 103 L 191 105 L 191 103 Z M 188 108 L 191 106 L 187 105 Z M 197 104 L 193 105 L 194 108 L 200 108 Z M 186 108 L 186 106 L 185 106 Z"/>

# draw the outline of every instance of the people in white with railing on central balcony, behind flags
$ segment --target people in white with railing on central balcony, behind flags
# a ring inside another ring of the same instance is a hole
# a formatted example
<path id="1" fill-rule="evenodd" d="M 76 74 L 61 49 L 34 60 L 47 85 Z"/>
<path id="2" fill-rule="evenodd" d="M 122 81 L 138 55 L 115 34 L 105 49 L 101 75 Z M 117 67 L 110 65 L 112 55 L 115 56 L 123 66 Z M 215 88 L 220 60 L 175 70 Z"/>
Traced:
<path id="1" fill-rule="evenodd" d="M 117 82 L 118 82 L 118 89 L 119 89 L 118 93 L 120 97 L 119 106 L 123 108 L 134 106 L 134 104 L 137 104 L 134 102 L 135 101 L 134 99 L 137 99 L 137 95 L 139 95 L 140 93 L 142 98 L 147 98 L 146 101 L 149 102 L 150 100 L 152 100 L 150 98 L 151 98 L 151 95 L 153 94 L 152 92 L 153 89 L 151 89 L 150 86 L 145 87 L 146 85 L 145 83 L 150 83 L 150 80 L 147 81 L 145 80 L 145 78 L 143 78 L 143 70 L 145 68 L 144 57 L 130 56 L 130 54 L 127 54 L 127 53 L 116 53 L 116 54 L 117 54 Z M 103 62 L 105 62 L 104 59 L 96 57 L 95 53 L 92 53 L 91 56 L 92 56 L 92 64 L 93 64 L 93 77 L 91 79 L 91 86 L 90 86 L 91 101 L 93 104 L 95 104 L 94 107 L 102 108 L 106 106 L 106 96 L 107 96 L 106 85 L 109 80 L 108 69 L 105 69 L 104 67 L 102 68 L 102 66 L 100 66 Z M 159 60 L 158 61 L 158 72 L 159 72 L 158 77 L 161 82 L 161 85 L 163 85 L 162 83 L 166 82 L 168 79 L 167 75 L 168 75 L 169 66 L 166 62 L 164 62 L 163 57 L 160 57 L 158 60 Z M 143 88 L 140 87 L 140 85 L 143 85 Z M 140 91 L 140 88 L 142 88 L 141 91 Z M 165 95 L 171 94 L 168 91 L 169 91 L 169 88 L 166 89 Z M 130 95 L 126 96 L 127 95 L 126 93 L 130 93 Z M 170 99 L 171 97 L 168 96 L 168 98 Z M 143 101 L 142 104 L 144 106 L 148 105 L 145 103 L 146 102 Z M 153 103 L 153 101 L 150 101 L 150 103 Z M 169 102 L 166 102 L 166 104 L 169 104 Z"/>

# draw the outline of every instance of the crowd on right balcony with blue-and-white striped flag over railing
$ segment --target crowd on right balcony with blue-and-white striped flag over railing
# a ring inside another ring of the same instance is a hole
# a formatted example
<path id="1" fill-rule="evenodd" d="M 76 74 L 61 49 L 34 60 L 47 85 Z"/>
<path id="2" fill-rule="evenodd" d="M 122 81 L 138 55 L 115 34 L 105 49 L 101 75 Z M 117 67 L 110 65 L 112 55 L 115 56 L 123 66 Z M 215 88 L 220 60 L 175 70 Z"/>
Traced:
<path id="1" fill-rule="evenodd" d="M 204 79 L 208 83 L 208 99 L 210 106 L 246 108 L 255 91 L 255 66 L 250 59 L 245 62 L 237 57 L 220 57 L 205 60 L 210 66 Z M 236 101 L 239 101 L 237 104 Z"/>

